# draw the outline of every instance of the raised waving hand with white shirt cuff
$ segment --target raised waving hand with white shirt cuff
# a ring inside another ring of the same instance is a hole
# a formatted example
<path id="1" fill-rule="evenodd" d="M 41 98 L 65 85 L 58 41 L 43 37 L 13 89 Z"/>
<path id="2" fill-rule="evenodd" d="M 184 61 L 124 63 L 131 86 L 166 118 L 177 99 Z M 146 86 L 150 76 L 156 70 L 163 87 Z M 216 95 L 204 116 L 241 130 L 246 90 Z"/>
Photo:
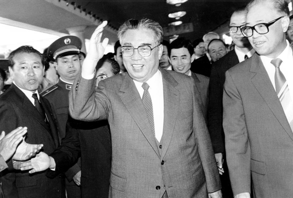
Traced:
<path id="1" fill-rule="evenodd" d="M 106 25 L 107 21 L 103 21 L 103 23 L 92 33 L 91 39 L 89 40 L 89 50 L 81 67 L 83 75 L 93 74 L 96 64 L 104 55 L 109 39 L 105 38 L 101 43 L 101 38 Z"/>

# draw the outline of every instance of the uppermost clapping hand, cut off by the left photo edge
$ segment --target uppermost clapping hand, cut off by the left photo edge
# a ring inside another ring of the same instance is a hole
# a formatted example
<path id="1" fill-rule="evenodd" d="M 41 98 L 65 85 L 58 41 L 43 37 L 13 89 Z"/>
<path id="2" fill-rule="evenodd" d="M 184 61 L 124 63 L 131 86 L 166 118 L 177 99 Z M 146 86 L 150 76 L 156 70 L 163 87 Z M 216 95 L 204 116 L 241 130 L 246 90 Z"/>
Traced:
<path id="1" fill-rule="evenodd" d="M 15 152 L 17 145 L 22 141 L 23 135 L 27 133 L 27 127 L 18 127 L 5 136 L 2 131 L 0 135 L 0 154 L 7 161 Z"/>

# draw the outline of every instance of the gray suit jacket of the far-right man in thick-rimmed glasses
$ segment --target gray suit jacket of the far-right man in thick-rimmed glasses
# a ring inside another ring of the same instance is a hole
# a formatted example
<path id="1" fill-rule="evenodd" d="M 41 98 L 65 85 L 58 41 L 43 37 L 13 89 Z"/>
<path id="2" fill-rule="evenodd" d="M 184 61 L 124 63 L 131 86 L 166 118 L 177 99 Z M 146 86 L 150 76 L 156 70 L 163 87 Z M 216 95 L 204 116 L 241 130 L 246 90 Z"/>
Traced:
<path id="1" fill-rule="evenodd" d="M 233 194 L 292 197 L 293 134 L 259 55 L 226 72 L 226 159 Z"/>

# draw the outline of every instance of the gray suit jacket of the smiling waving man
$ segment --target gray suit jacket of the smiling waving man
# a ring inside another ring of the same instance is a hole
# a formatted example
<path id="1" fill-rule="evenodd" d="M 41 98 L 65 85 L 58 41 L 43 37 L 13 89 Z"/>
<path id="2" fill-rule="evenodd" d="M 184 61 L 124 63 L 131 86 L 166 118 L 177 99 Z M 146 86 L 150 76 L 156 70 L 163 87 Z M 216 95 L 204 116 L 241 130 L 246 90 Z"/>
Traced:
<path id="1" fill-rule="evenodd" d="M 192 78 L 160 70 L 164 89 L 161 145 L 127 73 L 99 82 L 77 78 L 69 94 L 74 119 L 108 119 L 110 197 L 208 197 L 221 188 L 211 140 Z M 164 187 L 165 186 L 165 187 Z"/>

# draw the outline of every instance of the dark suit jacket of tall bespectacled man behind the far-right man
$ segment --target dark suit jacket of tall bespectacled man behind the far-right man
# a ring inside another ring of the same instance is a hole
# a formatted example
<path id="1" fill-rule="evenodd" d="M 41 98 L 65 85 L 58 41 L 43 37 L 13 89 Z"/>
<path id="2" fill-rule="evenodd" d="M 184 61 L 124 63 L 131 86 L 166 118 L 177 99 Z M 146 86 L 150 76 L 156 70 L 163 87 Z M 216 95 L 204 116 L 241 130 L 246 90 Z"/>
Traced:
<path id="1" fill-rule="evenodd" d="M 225 153 L 222 103 L 225 72 L 238 63 L 235 50 L 232 50 L 212 64 L 208 97 L 208 131 L 215 153 Z"/>

